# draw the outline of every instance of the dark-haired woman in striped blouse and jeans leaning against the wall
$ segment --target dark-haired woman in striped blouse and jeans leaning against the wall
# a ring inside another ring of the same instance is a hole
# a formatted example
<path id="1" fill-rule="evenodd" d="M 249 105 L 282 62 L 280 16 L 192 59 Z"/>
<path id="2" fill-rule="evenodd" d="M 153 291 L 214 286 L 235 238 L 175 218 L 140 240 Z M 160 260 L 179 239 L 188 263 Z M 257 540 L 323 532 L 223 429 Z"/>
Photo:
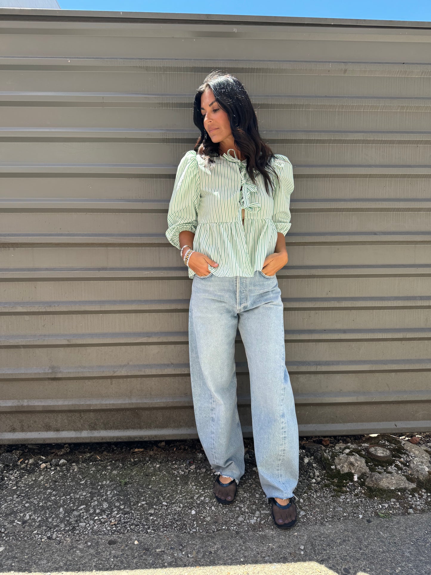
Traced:
<path id="1" fill-rule="evenodd" d="M 298 424 L 275 274 L 287 263 L 292 164 L 261 140 L 247 91 L 230 74 L 205 78 L 193 115 L 201 137 L 179 163 L 166 236 L 193 278 L 188 338 L 198 435 L 217 474 L 214 496 L 233 503 L 245 469 L 234 363 L 238 328 L 260 483 L 276 526 L 290 528 L 297 518 Z"/>

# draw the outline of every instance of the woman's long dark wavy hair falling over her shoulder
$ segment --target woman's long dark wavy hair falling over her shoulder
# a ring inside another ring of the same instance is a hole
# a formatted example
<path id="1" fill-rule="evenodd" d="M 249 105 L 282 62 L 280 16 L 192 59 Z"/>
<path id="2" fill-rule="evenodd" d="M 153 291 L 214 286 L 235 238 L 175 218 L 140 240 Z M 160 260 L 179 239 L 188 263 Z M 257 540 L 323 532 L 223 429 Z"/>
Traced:
<path id="1" fill-rule="evenodd" d="M 213 91 L 217 104 L 228 114 L 234 143 L 247 159 L 247 172 L 251 181 L 256 184 L 256 172 L 260 172 L 264 178 L 265 190 L 269 194 L 268 186 L 274 190 L 270 174 L 278 178 L 271 164 L 274 154 L 260 137 L 256 112 L 247 90 L 232 74 L 213 70 L 197 89 L 193 102 L 193 122 L 201 131 L 201 136 L 194 151 L 202 156 L 206 165 L 213 163 L 213 158 L 220 155 L 218 142 L 213 143 L 203 127 L 201 95 L 206 89 Z"/>

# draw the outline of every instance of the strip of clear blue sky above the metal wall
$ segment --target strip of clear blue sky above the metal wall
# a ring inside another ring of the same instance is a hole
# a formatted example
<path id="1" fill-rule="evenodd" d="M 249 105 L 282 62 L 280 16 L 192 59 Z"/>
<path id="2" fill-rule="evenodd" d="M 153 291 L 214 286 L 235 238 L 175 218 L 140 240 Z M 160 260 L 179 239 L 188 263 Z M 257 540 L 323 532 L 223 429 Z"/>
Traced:
<path id="1" fill-rule="evenodd" d="M 58 0 L 63 10 L 107 10 L 126 12 L 176 12 L 188 14 L 250 14 L 254 16 L 295 16 L 313 18 L 355 18 L 360 20 L 431 21 L 431 0 L 237 0 L 197 2 L 196 0 Z"/>

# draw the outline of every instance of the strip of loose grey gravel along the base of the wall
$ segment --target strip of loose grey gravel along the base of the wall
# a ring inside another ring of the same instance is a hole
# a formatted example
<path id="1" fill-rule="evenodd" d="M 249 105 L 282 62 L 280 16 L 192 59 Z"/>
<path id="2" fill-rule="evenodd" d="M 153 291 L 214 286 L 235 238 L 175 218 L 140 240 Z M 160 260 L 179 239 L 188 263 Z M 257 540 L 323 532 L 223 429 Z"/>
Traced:
<path id="1" fill-rule="evenodd" d="M 371 489 L 365 478 L 353 480 L 328 464 L 330 454 L 349 444 L 360 450 L 363 443 L 413 435 L 300 438 L 298 530 L 430 511 L 429 483 Z M 431 434 L 418 436 L 418 445 L 429 449 Z M 90 535 L 279 531 L 260 486 L 253 440 L 244 444 L 245 474 L 232 505 L 214 499 L 214 471 L 199 440 L 0 446 L 0 551 L 18 540 L 60 544 Z M 407 473 L 409 457 L 402 456 L 390 465 L 376 463 L 375 470 Z"/>

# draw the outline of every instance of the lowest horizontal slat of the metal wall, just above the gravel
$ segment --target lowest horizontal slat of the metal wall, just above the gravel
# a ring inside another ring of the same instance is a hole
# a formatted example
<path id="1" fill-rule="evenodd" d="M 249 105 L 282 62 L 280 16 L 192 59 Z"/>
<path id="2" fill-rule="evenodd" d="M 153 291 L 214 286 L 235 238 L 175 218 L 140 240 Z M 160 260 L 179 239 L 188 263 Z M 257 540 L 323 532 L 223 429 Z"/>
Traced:
<path id="1" fill-rule="evenodd" d="M 370 432 L 411 432 L 418 428 L 424 431 L 431 429 L 430 420 L 417 419 L 417 413 L 412 409 L 409 413 L 411 420 L 403 419 L 402 410 L 397 413 L 397 419 L 392 419 L 391 409 L 384 409 L 382 404 L 376 405 L 372 411 L 375 420 L 366 417 L 363 421 L 341 421 L 340 423 L 303 423 L 301 413 L 298 416 L 298 430 L 300 435 L 351 435 L 366 434 Z M 330 409 L 333 411 L 333 407 Z M 14 431 L 0 431 L 0 441 L 2 443 L 60 443 L 60 442 L 94 442 L 94 441 L 133 441 L 133 440 L 151 440 L 151 439 L 187 439 L 197 438 L 198 434 L 194 426 L 194 416 L 191 409 L 181 410 L 182 418 L 179 419 L 174 410 L 164 410 L 163 419 L 157 417 L 159 413 L 155 410 L 140 412 L 123 411 L 118 412 L 119 417 L 113 417 L 113 412 L 96 412 L 91 416 L 83 417 L 76 415 L 77 412 L 61 412 L 58 417 L 53 414 L 41 414 L 34 420 L 29 417 L 29 413 L 14 414 L 5 419 L 8 428 Z M 176 410 L 180 411 L 180 410 Z M 252 436 L 251 419 L 247 418 L 247 412 L 240 411 L 240 420 L 245 423 L 241 425 L 244 437 Z M 308 413 L 308 412 L 307 412 Z M 24 417 L 19 417 L 22 415 Z M 305 415 L 305 414 L 304 414 Z M 350 414 L 349 414 L 350 415 Z M 150 417 L 148 417 L 150 416 Z M 384 417 L 387 416 L 385 420 Z M 3 416 L 4 417 L 4 416 Z M 310 420 L 308 417 L 307 421 Z M 167 421 L 168 425 L 162 427 Z M 132 423 L 133 422 L 133 423 Z M 126 426 L 124 423 L 128 423 Z M 116 424 L 118 424 L 116 426 Z M 134 427 L 132 425 L 134 424 Z M 174 427 L 175 424 L 177 427 Z M 25 431 L 22 431 L 25 430 Z"/>

